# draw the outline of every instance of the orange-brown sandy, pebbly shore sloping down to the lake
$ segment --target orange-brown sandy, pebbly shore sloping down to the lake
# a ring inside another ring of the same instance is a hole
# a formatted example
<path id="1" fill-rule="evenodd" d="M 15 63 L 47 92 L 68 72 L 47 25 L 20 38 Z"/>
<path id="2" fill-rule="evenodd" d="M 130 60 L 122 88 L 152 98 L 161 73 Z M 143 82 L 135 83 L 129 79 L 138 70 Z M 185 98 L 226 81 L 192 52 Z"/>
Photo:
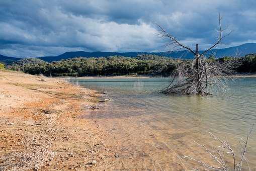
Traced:
<path id="1" fill-rule="evenodd" d="M 96 92 L 11 71 L 0 71 L 0 84 L 0 170 L 110 169 L 107 133 L 78 117 Z"/>

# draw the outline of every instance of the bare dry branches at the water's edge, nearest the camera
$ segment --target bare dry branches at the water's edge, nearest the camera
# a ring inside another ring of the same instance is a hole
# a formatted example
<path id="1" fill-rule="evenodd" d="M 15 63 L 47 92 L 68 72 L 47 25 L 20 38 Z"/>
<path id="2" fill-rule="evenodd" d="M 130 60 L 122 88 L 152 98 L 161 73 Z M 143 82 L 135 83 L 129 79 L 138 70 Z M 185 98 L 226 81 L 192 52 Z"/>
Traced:
<path id="1" fill-rule="evenodd" d="M 237 155 L 235 153 L 234 149 L 231 147 L 230 143 L 226 138 L 220 139 L 209 132 L 210 135 L 214 138 L 214 140 L 219 142 L 219 145 L 217 145 L 216 147 L 212 147 L 212 149 L 210 149 L 210 148 L 207 148 L 205 145 L 199 144 L 197 142 L 196 144 L 201 146 L 205 150 L 205 152 L 210 155 L 210 158 L 213 159 L 213 161 L 215 162 L 215 165 L 206 163 L 199 159 L 195 159 L 194 157 L 191 157 L 191 156 L 183 156 L 183 157 L 178 156 L 178 157 L 184 166 L 185 166 L 185 163 L 187 162 L 185 160 L 189 159 L 191 161 L 198 163 L 199 165 L 202 166 L 203 169 L 207 169 L 207 170 L 211 169 L 211 170 L 224 170 L 224 171 L 227 171 L 227 170 L 240 171 L 243 169 L 244 163 L 247 164 L 247 167 L 250 170 L 249 164 L 245 157 L 245 153 L 247 152 L 247 146 L 248 146 L 250 135 L 253 131 L 253 126 L 254 124 L 252 125 L 249 131 L 247 130 L 246 139 L 243 140 L 241 138 L 241 142 L 239 141 L 239 144 L 241 146 L 240 155 Z M 228 164 L 227 161 L 231 161 L 231 164 Z M 194 168 L 194 169 L 198 170 L 197 168 Z"/>

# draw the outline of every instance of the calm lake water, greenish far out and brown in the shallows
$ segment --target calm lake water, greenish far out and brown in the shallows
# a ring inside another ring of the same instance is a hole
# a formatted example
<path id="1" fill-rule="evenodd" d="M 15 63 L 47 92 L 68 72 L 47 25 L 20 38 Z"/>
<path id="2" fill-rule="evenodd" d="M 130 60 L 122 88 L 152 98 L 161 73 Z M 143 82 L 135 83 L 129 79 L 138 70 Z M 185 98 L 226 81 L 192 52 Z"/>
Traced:
<path id="1" fill-rule="evenodd" d="M 210 157 L 194 141 L 215 145 L 209 131 L 220 138 L 227 137 L 236 148 L 239 139 L 256 121 L 256 78 L 229 82 L 231 90 L 224 99 L 156 93 L 168 84 L 166 78 L 73 78 L 70 81 L 106 92 L 102 99 L 112 99 L 82 117 L 97 121 L 113 136 L 114 143 L 121 146 L 116 168 L 176 170 L 180 162 L 177 154 L 211 163 Z M 247 153 L 251 168 L 256 164 L 255 132 Z"/>

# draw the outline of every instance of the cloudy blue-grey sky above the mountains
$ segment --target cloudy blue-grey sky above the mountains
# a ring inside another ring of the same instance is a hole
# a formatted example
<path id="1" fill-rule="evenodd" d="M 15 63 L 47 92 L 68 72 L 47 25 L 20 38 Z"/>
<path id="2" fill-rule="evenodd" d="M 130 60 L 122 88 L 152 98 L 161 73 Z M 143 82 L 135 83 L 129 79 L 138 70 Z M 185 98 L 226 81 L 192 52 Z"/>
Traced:
<path id="1" fill-rule="evenodd" d="M 188 46 L 217 39 L 218 14 L 232 29 L 218 48 L 256 42 L 255 0 L 1 0 L 0 54 L 165 51 L 156 23 Z"/>

